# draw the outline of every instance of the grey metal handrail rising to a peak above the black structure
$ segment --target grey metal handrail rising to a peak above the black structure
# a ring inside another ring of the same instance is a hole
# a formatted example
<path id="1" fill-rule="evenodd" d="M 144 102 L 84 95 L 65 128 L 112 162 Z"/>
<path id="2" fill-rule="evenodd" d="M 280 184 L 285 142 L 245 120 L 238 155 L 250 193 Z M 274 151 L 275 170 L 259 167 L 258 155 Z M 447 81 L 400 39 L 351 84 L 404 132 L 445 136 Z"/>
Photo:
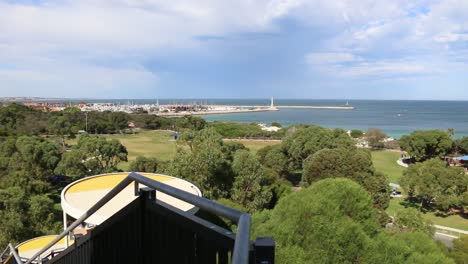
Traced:
<path id="1" fill-rule="evenodd" d="M 213 202 L 203 197 L 193 195 L 191 193 L 179 190 L 172 186 L 166 185 L 161 182 L 157 182 L 150 178 L 141 176 L 138 173 L 132 172 L 125 179 L 123 179 L 117 186 L 115 186 L 110 192 L 101 198 L 96 204 L 88 209 L 80 218 L 73 222 L 65 231 L 58 235 L 54 240 L 47 244 L 44 248 L 34 254 L 25 264 L 31 264 L 41 254 L 46 252 L 49 248 L 54 246 L 58 241 L 67 236 L 77 226 L 82 224 L 86 219 L 103 207 L 107 202 L 114 198 L 118 193 L 125 189 L 130 183 L 135 183 L 135 190 L 138 189 L 138 184 L 144 184 L 147 187 L 153 188 L 157 191 L 163 192 L 172 197 L 178 198 L 184 202 L 190 203 L 197 206 L 198 208 L 208 211 L 210 213 L 223 216 L 238 225 L 238 231 L 236 234 L 236 241 L 234 243 L 234 250 L 232 252 L 232 263 L 233 264 L 247 264 L 249 260 L 249 243 L 250 243 L 250 215 L 243 213 L 236 209 L 227 207 L 225 205 Z M 15 251 L 16 252 L 16 251 Z M 17 260 L 18 261 L 18 260 Z M 18 262 L 23 263 L 23 262 Z"/>

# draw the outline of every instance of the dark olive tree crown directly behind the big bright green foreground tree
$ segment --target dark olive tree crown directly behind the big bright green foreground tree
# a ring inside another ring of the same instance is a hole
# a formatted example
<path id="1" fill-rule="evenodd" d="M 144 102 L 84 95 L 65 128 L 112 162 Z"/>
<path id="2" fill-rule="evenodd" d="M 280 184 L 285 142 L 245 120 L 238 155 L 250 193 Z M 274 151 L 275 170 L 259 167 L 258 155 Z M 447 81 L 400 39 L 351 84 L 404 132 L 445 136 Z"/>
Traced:
<path id="1" fill-rule="evenodd" d="M 385 209 L 389 203 L 387 177 L 375 173 L 371 154 L 365 149 L 323 149 L 304 161 L 302 184 L 307 186 L 325 178 L 349 178 L 371 194 L 374 204 Z"/>

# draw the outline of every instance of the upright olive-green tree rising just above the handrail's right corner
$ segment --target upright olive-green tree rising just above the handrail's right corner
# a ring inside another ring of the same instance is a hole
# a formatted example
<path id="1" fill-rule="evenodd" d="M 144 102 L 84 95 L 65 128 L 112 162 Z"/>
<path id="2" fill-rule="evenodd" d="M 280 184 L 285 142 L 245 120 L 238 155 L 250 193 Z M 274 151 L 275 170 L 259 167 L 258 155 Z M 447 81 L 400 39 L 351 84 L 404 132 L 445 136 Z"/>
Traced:
<path id="1" fill-rule="evenodd" d="M 250 212 L 263 209 L 271 200 L 267 179 L 262 165 L 247 150 L 239 150 L 234 155 L 232 170 L 235 174 L 232 186 L 232 200 Z"/>

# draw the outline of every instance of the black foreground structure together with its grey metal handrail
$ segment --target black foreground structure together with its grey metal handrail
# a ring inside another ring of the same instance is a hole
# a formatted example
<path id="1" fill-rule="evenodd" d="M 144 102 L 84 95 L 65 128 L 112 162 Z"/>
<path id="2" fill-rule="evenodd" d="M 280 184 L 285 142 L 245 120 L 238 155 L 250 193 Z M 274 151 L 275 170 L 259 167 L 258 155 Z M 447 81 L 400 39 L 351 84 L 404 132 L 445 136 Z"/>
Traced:
<path id="1" fill-rule="evenodd" d="M 64 251 L 39 258 L 132 182 L 138 199 Z M 140 189 L 138 183 L 148 188 Z M 158 201 L 159 191 L 237 223 L 237 234 Z M 273 264 L 274 247 L 271 238 L 250 241 L 249 214 L 132 173 L 31 259 L 20 259 L 10 244 L 1 263 Z"/>

